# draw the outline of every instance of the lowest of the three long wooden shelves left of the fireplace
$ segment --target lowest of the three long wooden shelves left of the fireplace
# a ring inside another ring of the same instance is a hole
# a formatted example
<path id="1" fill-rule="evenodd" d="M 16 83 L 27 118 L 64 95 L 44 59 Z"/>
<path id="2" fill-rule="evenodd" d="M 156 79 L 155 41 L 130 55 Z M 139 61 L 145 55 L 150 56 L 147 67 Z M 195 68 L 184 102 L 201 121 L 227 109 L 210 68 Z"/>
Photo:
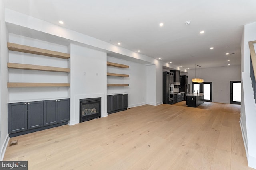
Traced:
<path id="1" fill-rule="evenodd" d="M 70 83 L 7 83 L 7 87 L 70 87 Z"/>

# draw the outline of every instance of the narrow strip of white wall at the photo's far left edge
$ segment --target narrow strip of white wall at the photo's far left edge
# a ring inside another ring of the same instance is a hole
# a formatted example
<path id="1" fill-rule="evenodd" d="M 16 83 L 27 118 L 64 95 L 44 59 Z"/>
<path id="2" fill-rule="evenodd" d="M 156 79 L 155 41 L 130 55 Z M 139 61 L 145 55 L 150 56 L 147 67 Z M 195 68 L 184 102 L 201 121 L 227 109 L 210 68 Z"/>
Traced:
<path id="1" fill-rule="evenodd" d="M 4 22 L 4 4 L 3 1 L 0 1 L 0 159 L 4 158 L 4 152 L 8 144 L 8 130 L 7 130 L 7 100 L 8 100 L 8 90 L 7 90 L 7 59 L 8 59 L 8 50 L 6 48 L 8 31 Z"/>

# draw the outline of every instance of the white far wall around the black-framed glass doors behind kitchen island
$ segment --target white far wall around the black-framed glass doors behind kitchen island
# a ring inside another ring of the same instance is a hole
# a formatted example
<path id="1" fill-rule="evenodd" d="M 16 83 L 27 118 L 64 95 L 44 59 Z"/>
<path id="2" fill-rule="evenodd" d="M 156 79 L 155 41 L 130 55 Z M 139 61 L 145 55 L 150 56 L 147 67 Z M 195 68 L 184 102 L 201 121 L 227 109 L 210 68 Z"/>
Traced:
<path id="1" fill-rule="evenodd" d="M 190 70 L 187 75 L 191 92 L 195 70 Z M 201 68 L 201 78 L 204 82 L 212 82 L 212 102 L 230 103 L 230 81 L 241 81 L 241 66 Z"/>

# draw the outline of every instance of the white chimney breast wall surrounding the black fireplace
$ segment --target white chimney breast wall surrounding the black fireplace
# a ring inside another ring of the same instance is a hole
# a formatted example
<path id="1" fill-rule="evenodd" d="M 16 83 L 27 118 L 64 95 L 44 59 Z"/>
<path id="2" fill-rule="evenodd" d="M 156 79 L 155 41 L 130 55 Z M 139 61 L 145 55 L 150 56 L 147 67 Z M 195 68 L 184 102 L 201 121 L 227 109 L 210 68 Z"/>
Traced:
<path id="1" fill-rule="evenodd" d="M 105 52 L 70 45 L 70 125 L 79 123 L 79 99 L 83 98 L 101 97 L 101 117 L 107 116 L 106 63 Z"/>

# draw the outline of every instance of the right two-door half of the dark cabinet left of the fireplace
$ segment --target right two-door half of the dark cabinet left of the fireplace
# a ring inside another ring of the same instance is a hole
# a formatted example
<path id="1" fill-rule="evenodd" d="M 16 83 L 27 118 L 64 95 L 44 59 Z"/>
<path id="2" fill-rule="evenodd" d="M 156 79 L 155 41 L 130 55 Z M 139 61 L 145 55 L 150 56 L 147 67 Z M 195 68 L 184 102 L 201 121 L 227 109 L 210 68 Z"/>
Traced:
<path id="1" fill-rule="evenodd" d="M 44 101 L 44 125 L 69 121 L 69 99 Z"/>

